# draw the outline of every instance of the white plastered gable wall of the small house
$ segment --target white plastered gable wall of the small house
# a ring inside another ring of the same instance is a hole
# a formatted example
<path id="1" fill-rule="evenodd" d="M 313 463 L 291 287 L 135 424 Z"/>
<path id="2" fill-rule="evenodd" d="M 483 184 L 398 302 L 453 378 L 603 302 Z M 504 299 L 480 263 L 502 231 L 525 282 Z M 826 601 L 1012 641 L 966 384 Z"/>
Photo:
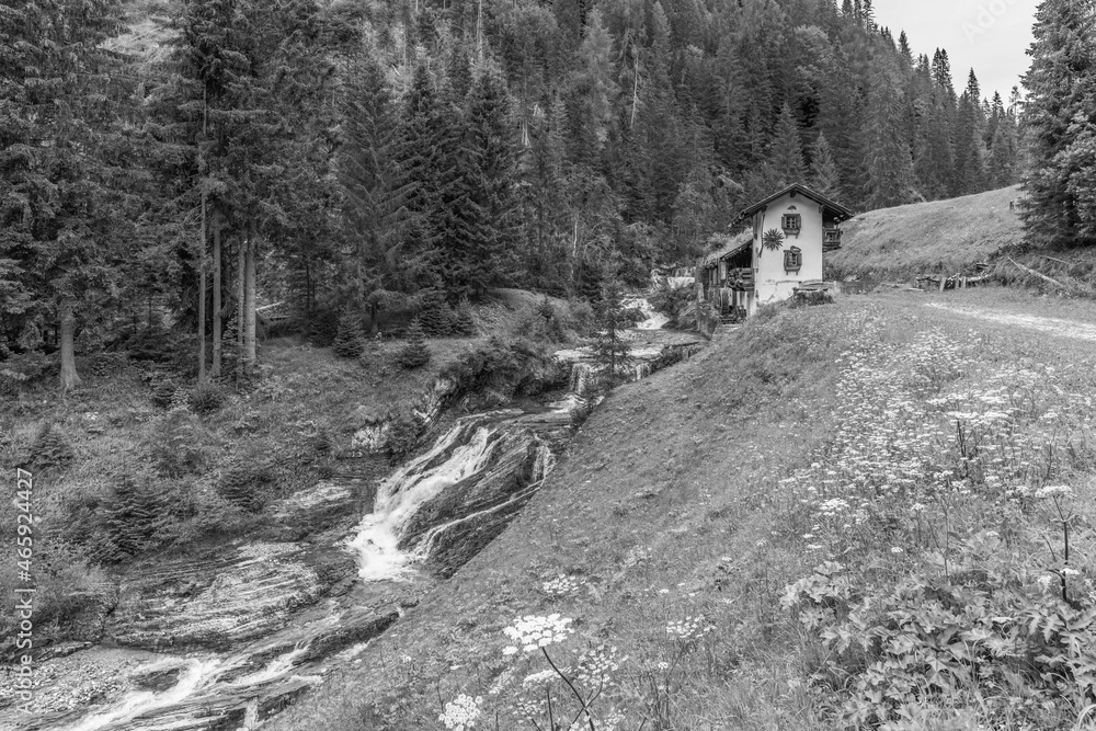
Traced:
<path id="1" fill-rule="evenodd" d="M 791 206 L 796 209 L 791 210 Z M 769 229 L 780 227 L 781 217 L 785 214 L 799 214 L 802 228 L 799 236 L 791 233 L 785 237 L 784 249 L 770 251 L 762 247 L 762 237 Z M 821 206 L 803 196 L 784 195 L 769 203 L 765 210 L 757 214 L 762 217 L 762 225 L 755 227 L 754 236 L 754 289 L 756 296 L 750 302 L 750 313 L 752 315 L 758 305 L 768 305 L 785 299 L 790 299 L 795 287 L 803 282 L 818 282 L 822 278 L 822 239 L 824 237 L 822 228 Z M 802 251 L 803 265 L 798 272 L 785 272 L 784 252 L 791 247 L 799 247 Z"/>

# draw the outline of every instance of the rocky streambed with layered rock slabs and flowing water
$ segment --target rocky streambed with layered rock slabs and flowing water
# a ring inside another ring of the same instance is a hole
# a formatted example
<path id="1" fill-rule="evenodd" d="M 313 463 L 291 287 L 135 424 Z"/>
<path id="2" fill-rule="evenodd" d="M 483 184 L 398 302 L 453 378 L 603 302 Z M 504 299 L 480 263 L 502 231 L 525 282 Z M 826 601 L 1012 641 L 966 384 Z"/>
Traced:
<path id="1" fill-rule="evenodd" d="M 650 324 L 650 323 L 648 323 Z M 655 327 L 629 334 L 636 376 L 699 349 Z M 436 384 L 419 409 L 427 448 L 383 479 L 334 479 L 273 507 L 306 540 L 239 541 L 128 572 L 109 641 L 41 663 L 31 713 L 0 681 L 0 728 L 112 731 L 258 728 L 357 655 L 501 533 L 536 493 L 573 432 L 596 364 L 560 352 L 567 388 L 539 400 L 443 418 Z M 363 452 L 390 429 L 357 435 Z M 362 495 L 373 510 L 359 521 Z M 331 516 L 342 516 L 331 519 Z M 355 523 L 356 521 L 356 523 Z M 73 648 L 76 649 L 76 648 Z"/>

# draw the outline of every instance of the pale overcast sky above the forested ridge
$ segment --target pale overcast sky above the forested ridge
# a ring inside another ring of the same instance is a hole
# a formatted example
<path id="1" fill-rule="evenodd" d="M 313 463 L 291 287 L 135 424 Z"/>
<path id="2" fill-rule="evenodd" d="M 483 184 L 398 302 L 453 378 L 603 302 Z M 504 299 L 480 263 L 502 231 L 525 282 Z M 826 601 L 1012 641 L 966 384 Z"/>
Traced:
<path id="1" fill-rule="evenodd" d="M 974 69 L 982 95 L 1008 93 L 1027 72 L 1027 49 L 1039 0 L 876 0 L 876 22 L 891 28 L 898 41 L 905 30 L 914 56 L 946 48 L 956 91 L 967 87 Z M 1023 88 L 1020 89 L 1023 92 Z"/>

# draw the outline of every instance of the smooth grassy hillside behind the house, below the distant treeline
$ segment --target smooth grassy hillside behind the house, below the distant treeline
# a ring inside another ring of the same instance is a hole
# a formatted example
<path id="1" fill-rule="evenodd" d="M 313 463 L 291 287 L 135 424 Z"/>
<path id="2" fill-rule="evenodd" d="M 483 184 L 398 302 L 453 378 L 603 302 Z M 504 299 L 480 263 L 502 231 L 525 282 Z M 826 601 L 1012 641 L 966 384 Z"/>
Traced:
<path id="1" fill-rule="evenodd" d="M 861 214 L 844 225 L 842 248 L 826 256 L 831 276 L 907 279 L 970 271 L 974 262 L 1020 243 L 1018 186 L 949 201 Z"/>

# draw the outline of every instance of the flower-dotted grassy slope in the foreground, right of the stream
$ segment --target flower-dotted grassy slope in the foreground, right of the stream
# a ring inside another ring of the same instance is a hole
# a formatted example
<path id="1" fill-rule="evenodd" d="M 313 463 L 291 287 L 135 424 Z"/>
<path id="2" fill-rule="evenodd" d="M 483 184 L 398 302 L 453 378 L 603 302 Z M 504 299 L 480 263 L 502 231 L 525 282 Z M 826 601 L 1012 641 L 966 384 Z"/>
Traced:
<path id="1" fill-rule="evenodd" d="M 598 693 L 582 728 L 1072 728 L 1092 345 L 909 297 L 764 315 L 617 390 L 518 521 L 274 728 L 441 729 L 457 699 L 567 728 Z"/>

